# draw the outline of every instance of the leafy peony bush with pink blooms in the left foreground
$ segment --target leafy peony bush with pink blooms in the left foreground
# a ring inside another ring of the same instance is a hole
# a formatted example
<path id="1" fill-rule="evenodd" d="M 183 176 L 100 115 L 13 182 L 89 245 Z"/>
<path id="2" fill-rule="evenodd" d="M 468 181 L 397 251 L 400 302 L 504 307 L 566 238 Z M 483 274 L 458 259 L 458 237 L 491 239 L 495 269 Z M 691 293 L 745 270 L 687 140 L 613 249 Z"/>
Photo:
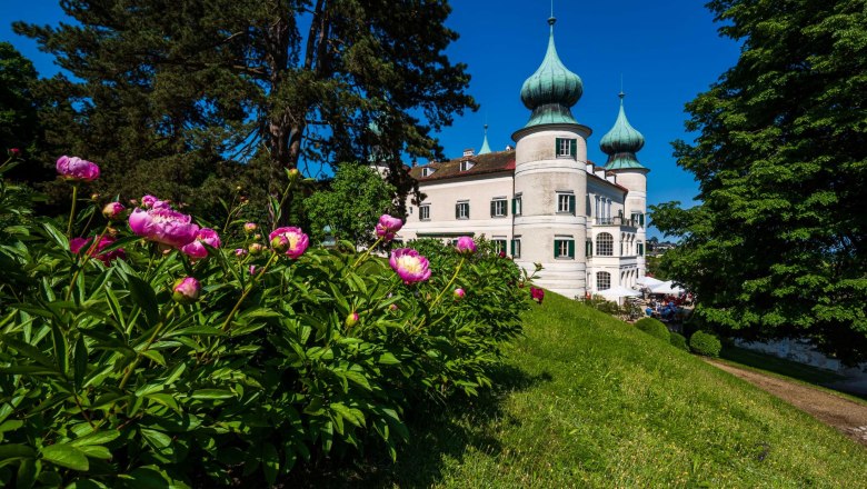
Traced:
<path id="1" fill-rule="evenodd" d="M 0 485 L 263 487 L 371 442 L 395 457 L 408 409 L 490 386 L 520 333 L 531 277 L 484 242 L 380 258 L 390 216 L 358 253 L 155 196 L 77 212 L 99 168 L 61 160 L 66 222 L 0 187 Z"/>

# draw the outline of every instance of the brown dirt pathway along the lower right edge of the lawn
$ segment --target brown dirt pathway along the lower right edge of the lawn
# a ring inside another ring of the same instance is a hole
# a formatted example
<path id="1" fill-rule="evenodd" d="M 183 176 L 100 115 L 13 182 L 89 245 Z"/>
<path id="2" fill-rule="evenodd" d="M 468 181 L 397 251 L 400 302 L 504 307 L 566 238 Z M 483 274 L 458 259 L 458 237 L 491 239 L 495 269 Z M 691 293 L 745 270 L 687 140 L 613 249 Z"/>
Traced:
<path id="1" fill-rule="evenodd" d="M 837 428 L 857 442 L 867 446 L 867 406 L 777 377 L 715 360 L 705 359 L 705 361 L 770 392 L 819 421 Z"/>

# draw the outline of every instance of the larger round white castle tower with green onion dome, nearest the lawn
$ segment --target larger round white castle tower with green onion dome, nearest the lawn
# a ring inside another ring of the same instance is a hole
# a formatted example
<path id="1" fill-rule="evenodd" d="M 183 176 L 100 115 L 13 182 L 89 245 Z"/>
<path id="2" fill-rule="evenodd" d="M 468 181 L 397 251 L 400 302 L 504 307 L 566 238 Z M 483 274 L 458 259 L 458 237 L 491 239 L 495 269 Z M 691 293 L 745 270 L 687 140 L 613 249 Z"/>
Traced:
<path id="1" fill-rule="evenodd" d="M 587 138 L 571 107 L 581 98 L 581 79 L 569 71 L 554 46 L 548 19 L 548 50 L 539 69 L 524 82 L 521 101 L 532 111 L 515 131 L 514 236 L 520 242 L 516 261 L 532 270 L 545 268 L 537 283 L 566 297 L 586 290 Z M 519 212 L 518 212 L 519 210 Z"/>

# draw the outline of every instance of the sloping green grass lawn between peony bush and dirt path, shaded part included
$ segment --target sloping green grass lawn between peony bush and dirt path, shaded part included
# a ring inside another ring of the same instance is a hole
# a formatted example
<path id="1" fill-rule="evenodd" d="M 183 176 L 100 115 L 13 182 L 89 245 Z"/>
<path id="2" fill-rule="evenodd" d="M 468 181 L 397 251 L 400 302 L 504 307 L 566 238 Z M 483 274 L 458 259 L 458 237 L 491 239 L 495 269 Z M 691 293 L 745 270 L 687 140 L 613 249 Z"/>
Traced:
<path id="1" fill-rule="evenodd" d="M 867 449 L 634 327 L 554 293 L 526 315 L 499 388 L 410 419 L 398 462 L 352 487 L 856 487 Z"/>

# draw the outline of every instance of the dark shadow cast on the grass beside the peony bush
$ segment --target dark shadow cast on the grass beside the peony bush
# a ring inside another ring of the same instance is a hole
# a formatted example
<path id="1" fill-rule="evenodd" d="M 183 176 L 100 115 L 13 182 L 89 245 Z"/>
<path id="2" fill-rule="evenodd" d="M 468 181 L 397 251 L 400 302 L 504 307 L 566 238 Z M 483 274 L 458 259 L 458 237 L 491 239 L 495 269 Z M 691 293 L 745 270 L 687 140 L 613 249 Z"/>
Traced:
<path id="1" fill-rule="evenodd" d="M 551 376 L 530 376 L 518 368 L 500 366 L 490 372 L 490 378 L 494 388 L 481 391 L 477 398 L 431 400 L 408 412 L 410 438 L 398 449 L 396 462 L 382 447 L 376 447 L 352 459 L 299 467 L 291 487 L 430 487 L 442 480 L 447 461 L 459 463 L 467 450 L 499 453 L 502 447 L 491 436 L 496 425 L 519 422 L 504 410 L 508 395 L 550 381 Z"/>

